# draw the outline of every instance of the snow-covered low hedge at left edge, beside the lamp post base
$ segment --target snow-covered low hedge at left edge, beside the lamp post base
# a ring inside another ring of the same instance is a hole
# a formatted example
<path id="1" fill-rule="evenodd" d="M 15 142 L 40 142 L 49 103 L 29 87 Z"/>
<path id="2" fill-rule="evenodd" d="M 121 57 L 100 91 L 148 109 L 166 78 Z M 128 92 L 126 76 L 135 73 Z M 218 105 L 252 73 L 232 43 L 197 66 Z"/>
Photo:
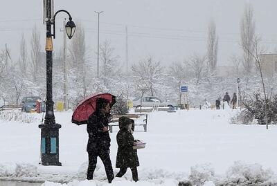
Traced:
<path id="1" fill-rule="evenodd" d="M 3 122 L 32 123 L 42 120 L 42 115 L 39 113 L 22 113 L 19 110 L 8 110 L 0 112 L 0 120 Z"/>

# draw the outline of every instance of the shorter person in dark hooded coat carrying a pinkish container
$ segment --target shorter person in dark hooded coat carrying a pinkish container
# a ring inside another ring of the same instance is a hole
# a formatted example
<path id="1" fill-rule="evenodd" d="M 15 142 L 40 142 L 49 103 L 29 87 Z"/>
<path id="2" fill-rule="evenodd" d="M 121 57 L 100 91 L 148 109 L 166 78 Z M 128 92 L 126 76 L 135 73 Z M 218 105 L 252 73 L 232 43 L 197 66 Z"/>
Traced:
<path id="1" fill-rule="evenodd" d="M 132 171 L 132 178 L 134 181 L 139 180 L 138 170 L 139 158 L 134 146 L 134 137 L 132 135 L 132 120 L 127 117 L 120 117 L 118 120 L 119 131 L 116 135 L 118 144 L 118 151 L 116 155 L 116 168 L 120 168 L 116 177 L 122 177 L 129 167 Z"/>

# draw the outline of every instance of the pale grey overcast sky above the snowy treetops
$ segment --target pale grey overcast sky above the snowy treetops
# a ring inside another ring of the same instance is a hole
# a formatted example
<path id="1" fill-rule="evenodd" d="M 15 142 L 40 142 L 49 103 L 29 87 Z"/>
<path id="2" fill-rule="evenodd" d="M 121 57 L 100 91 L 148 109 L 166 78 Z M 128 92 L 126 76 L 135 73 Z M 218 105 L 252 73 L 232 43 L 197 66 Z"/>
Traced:
<path id="1" fill-rule="evenodd" d="M 100 15 L 100 42 L 111 41 L 115 55 L 125 62 L 125 26 L 128 26 L 129 63 L 152 55 L 163 64 L 183 60 L 193 53 L 206 52 L 208 22 L 215 19 L 219 37 L 218 63 L 228 63 L 229 57 L 240 53 L 240 19 L 245 0 L 59 0 L 55 10 L 68 10 L 73 21 L 82 22 L 86 32 L 91 61 L 96 62 L 97 20 Z M 276 0 L 251 0 L 257 32 L 262 35 L 268 52 L 276 51 Z M 30 44 L 35 24 L 42 30 L 44 48 L 45 26 L 42 25 L 42 0 L 10 0 L 0 6 L 0 48 L 11 48 L 13 60 L 18 59 L 19 41 L 24 32 Z M 62 46 L 62 20 L 57 15 L 54 50 Z"/>

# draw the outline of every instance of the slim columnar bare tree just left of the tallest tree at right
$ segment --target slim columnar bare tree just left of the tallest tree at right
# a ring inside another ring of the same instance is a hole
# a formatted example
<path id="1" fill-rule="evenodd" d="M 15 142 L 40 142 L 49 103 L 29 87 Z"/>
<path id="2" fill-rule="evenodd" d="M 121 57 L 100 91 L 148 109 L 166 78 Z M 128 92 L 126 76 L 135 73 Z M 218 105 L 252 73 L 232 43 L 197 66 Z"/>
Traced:
<path id="1" fill-rule="evenodd" d="M 218 50 L 218 37 L 216 34 L 215 21 L 212 19 L 208 25 L 208 73 L 213 73 L 217 65 L 217 50 Z"/>

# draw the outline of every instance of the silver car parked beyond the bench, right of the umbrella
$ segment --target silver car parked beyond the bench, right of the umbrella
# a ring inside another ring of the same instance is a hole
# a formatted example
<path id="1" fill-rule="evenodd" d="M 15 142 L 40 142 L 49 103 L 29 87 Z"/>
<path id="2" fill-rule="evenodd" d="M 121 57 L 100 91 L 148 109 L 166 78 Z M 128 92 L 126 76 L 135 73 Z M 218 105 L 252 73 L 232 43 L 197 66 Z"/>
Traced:
<path id="1" fill-rule="evenodd" d="M 163 102 L 158 97 L 154 96 L 144 96 L 144 97 L 136 97 L 133 100 L 133 106 L 135 108 L 139 108 L 140 106 L 170 106 L 174 107 L 175 104 L 171 102 Z"/>

